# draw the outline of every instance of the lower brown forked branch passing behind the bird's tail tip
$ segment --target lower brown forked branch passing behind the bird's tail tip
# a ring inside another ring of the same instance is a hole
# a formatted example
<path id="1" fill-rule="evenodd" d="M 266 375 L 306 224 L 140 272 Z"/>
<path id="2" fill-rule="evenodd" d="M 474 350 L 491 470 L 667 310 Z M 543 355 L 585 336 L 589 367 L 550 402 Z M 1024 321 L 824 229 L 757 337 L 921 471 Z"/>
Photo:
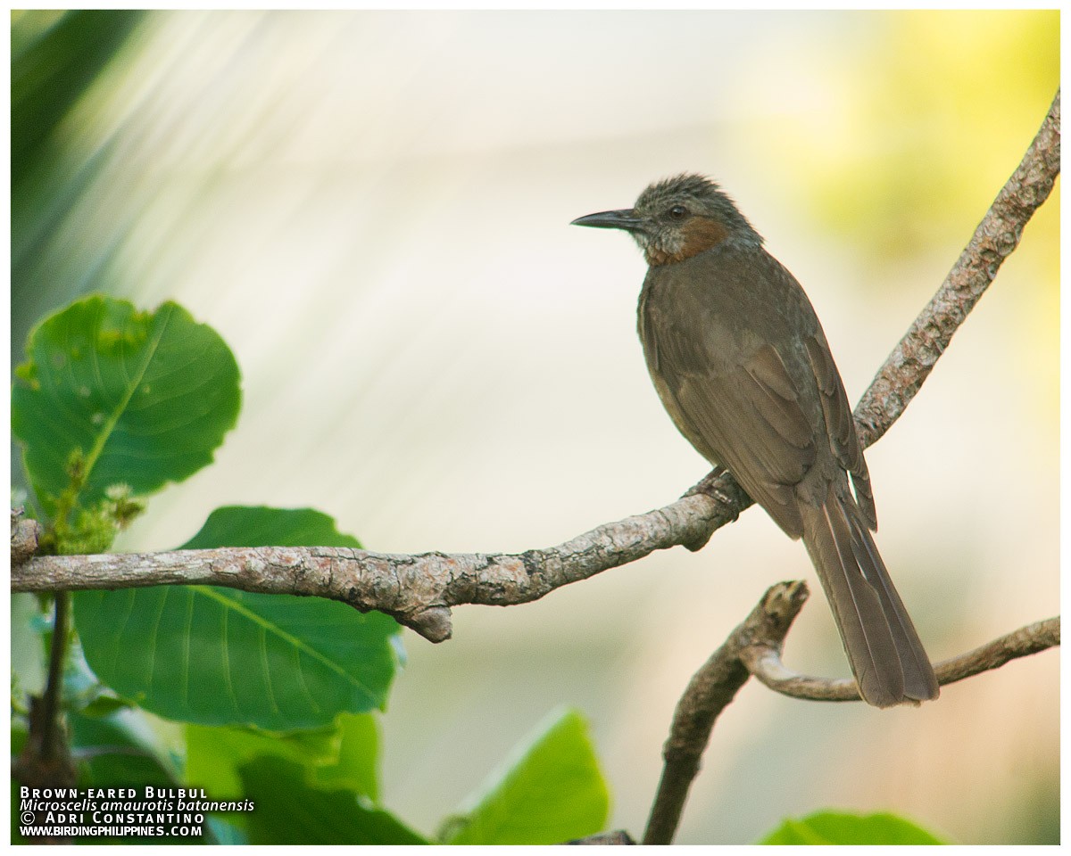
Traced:
<path id="1" fill-rule="evenodd" d="M 804 677 L 781 662 L 785 636 L 808 596 L 806 583 L 802 581 L 771 586 L 743 624 L 729 633 L 689 682 L 677 703 L 662 752 L 665 764 L 643 843 L 673 842 L 714 721 L 751 675 L 770 689 L 798 699 L 860 701 L 856 682 L 850 678 Z M 1059 643 L 1060 620 L 1049 618 L 938 663 L 937 679 L 941 686 L 952 684 Z"/>

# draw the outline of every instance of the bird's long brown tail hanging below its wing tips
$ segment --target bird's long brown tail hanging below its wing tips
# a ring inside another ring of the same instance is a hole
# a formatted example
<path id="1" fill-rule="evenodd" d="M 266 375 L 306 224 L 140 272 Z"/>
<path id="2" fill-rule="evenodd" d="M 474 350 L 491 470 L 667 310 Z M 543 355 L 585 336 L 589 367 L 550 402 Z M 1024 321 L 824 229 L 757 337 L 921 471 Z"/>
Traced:
<path id="1" fill-rule="evenodd" d="M 803 544 L 833 609 L 860 694 L 889 707 L 936 699 L 937 678 L 846 484 L 801 503 Z"/>

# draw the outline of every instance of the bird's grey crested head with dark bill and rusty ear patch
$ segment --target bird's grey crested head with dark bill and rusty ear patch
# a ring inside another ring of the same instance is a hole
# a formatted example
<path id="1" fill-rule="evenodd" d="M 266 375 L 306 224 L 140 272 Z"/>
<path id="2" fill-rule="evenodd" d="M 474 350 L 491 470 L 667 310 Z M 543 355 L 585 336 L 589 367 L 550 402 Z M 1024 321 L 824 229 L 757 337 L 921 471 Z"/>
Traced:
<path id="1" fill-rule="evenodd" d="M 728 240 L 763 243 L 733 200 L 714 182 L 695 174 L 655 182 L 632 208 L 588 214 L 573 225 L 623 229 L 652 266 L 683 261 Z"/>

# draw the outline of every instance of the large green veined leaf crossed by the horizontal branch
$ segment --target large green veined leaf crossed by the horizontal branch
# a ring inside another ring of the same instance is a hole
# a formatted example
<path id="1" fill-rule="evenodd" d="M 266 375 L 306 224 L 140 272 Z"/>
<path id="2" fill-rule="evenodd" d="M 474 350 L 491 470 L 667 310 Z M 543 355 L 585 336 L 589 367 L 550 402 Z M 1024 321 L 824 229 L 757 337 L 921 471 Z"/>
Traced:
<path id="1" fill-rule="evenodd" d="M 310 542 L 358 545 L 308 508 L 229 507 L 183 547 Z M 74 602 L 101 681 L 185 722 L 325 727 L 343 712 L 383 707 L 403 658 L 393 618 L 333 600 L 198 585 L 78 592 Z"/>

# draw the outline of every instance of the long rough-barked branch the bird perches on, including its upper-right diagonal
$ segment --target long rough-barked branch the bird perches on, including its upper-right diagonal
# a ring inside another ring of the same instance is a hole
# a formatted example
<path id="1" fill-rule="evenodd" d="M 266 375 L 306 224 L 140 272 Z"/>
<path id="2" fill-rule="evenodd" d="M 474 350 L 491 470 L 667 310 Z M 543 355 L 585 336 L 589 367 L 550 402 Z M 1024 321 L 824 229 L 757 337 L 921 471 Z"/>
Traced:
<path id="1" fill-rule="evenodd" d="M 1015 248 L 1023 228 L 1059 173 L 1059 92 L 1023 162 L 998 194 L 937 294 L 890 354 L 856 410 L 864 445 L 880 438 L 918 392 L 952 334 Z M 698 550 L 752 504 L 733 477 L 715 471 L 669 505 L 606 523 L 542 550 L 519 554 L 391 555 L 342 548 L 241 548 L 164 553 L 40 556 L 17 553 L 12 591 L 123 588 L 205 583 L 248 592 L 330 597 L 380 610 L 425 638 L 451 632 L 450 608 L 510 606 L 608 568 L 682 545 Z M 22 521 L 24 523 L 26 521 Z M 25 535 L 25 533 L 22 533 Z M 25 538 L 20 535 L 20 544 Z"/>

